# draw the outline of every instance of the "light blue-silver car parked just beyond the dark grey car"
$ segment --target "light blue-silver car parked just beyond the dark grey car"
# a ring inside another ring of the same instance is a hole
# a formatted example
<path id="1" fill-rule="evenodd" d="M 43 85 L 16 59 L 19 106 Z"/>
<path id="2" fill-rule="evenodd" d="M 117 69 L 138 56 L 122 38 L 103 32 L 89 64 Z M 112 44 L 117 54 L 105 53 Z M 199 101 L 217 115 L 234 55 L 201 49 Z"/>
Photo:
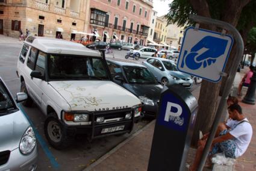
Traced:
<path id="1" fill-rule="evenodd" d="M 148 67 L 162 85 L 181 84 L 187 89 L 190 89 L 193 85 L 193 79 L 190 75 L 178 71 L 172 60 L 148 58 L 142 64 Z"/>

